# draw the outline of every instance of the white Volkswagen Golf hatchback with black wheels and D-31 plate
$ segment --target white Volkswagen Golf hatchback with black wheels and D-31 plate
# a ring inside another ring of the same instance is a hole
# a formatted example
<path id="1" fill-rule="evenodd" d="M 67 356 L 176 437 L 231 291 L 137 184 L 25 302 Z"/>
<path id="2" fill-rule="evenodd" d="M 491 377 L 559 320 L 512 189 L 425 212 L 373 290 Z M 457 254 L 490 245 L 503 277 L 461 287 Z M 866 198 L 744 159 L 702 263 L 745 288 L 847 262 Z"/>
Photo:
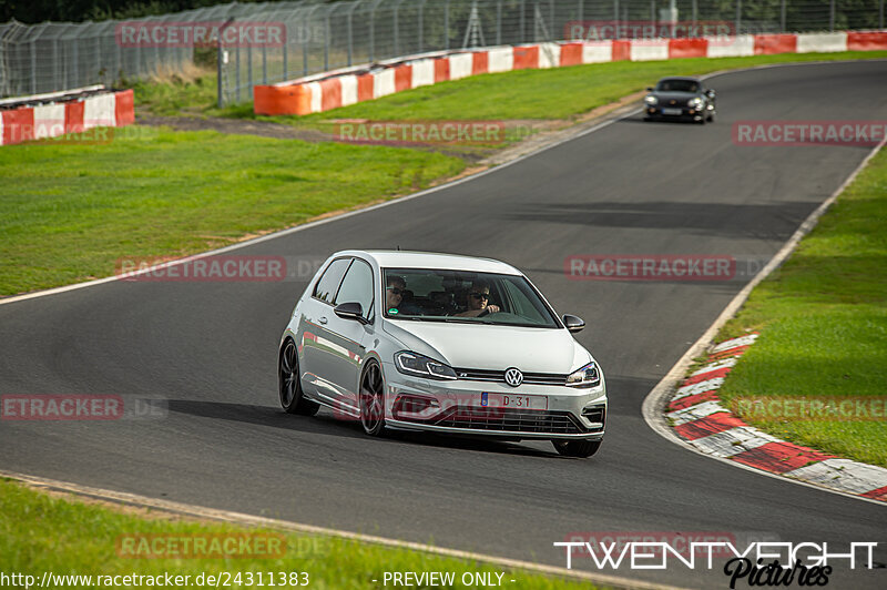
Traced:
<path id="1" fill-rule="evenodd" d="M 523 274 L 449 254 L 345 251 L 327 260 L 281 338 L 281 405 L 359 419 L 369 435 L 430 430 L 550 439 L 590 457 L 603 373 Z"/>

